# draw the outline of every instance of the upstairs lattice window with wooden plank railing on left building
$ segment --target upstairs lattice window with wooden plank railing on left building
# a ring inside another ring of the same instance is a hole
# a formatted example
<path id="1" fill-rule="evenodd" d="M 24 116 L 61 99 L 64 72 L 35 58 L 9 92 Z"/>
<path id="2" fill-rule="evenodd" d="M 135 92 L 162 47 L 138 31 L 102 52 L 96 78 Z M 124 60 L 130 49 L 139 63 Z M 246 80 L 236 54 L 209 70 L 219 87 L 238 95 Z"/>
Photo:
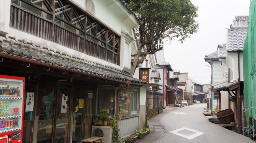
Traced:
<path id="1" fill-rule="evenodd" d="M 67 0 L 11 0 L 10 26 L 119 65 L 120 36 Z"/>

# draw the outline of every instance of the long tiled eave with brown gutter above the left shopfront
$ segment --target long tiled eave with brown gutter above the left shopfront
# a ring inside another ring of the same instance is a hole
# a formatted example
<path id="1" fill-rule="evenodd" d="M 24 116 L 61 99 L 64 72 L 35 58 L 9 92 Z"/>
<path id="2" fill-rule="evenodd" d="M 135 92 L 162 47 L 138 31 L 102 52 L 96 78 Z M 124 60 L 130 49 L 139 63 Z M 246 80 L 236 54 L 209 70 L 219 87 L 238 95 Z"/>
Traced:
<path id="1" fill-rule="evenodd" d="M 50 47 L 44 47 L 37 43 L 26 42 L 25 40 L 15 41 L 12 37 L 2 38 L 0 40 L 0 59 L 6 58 L 25 62 L 27 67 L 30 64 L 38 65 L 42 70 L 59 71 L 63 75 L 70 74 L 74 76 L 94 77 L 119 83 L 151 86 L 150 83 L 132 77 L 129 72 L 121 71 L 110 65 L 102 65 L 94 61 L 89 61 L 83 57 L 72 56 L 70 53 L 56 51 Z M 30 67 L 32 68 L 32 67 Z"/>

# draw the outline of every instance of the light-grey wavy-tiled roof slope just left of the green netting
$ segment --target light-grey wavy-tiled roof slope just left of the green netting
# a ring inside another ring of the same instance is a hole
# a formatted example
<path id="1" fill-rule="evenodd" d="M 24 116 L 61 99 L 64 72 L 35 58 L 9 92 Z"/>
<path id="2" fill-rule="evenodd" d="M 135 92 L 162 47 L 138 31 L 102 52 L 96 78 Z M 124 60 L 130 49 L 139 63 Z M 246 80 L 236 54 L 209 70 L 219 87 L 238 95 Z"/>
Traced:
<path id="1" fill-rule="evenodd" d="M 243 50 L 247 29 L 247 27 L 228 29 L 228 51 Z"/>

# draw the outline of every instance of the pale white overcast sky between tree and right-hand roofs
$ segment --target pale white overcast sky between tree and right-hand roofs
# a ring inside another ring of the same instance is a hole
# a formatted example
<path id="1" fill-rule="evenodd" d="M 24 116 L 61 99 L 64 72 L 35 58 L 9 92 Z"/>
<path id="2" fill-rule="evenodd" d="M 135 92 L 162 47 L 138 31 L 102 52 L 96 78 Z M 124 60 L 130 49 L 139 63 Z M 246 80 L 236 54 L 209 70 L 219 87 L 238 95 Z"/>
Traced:
<path id="1" fill-rule="evenodd" d="M 249 15 L 250 0 L 191 0 L 198 6 L 199 29 L 181 44 L 165 42 L 165 61 L 173 69 L 188 72 L 200 83 L 210 83 L 211 71 L 204 61 L 206 54 L 217 51 L 217 45 L 226 43 L 226 29 L 235 16 Z"/>

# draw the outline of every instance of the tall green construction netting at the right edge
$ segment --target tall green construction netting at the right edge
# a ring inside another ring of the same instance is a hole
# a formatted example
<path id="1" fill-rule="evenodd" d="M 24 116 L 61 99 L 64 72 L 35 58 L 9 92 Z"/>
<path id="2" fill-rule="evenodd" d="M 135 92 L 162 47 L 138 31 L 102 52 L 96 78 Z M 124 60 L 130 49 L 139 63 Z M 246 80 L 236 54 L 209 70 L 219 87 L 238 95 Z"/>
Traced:
<path id="1" fill-rule="evenodd" d="M 253 117 L 256 119 L 256 72 L 255 72 L 255 62 L 256 57 L 254 42 L 256 41 L 255 30 L 255 0 L 252 0 L 250 4 L 249 13 L 249 26 L 248 33 L 245 39 L 243 48 L 243 70 L 244 70 L 244 106 L 252 107 L 252 109 L 247 110 L 247 125 L 249 120 L 248 117 Z"/>

